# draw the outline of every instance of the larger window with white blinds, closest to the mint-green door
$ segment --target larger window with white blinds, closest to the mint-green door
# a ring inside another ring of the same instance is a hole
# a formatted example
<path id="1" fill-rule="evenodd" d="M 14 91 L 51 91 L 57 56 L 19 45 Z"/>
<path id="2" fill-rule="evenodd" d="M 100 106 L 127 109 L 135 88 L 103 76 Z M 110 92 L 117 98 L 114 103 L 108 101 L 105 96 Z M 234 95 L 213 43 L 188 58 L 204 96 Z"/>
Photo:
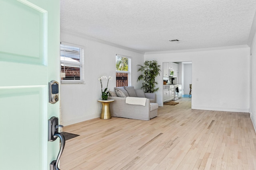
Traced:
<path id="1" fill-rule="evenodd" d="M 60 45 L 61 82 L 83 82 L 84 49 L 71 45 Z"/>

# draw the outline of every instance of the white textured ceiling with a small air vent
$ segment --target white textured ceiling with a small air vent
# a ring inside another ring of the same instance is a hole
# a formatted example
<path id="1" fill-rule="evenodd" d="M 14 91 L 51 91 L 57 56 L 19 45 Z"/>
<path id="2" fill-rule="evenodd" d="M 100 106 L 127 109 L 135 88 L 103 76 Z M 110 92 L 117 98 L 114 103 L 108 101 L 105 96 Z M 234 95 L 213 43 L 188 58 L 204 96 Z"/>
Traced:
<path id="1" fill-rule="evenodd" d="M 60 27 L 141 52 L 203 49 L 247 45 L 255 11 L 255 0 L 61 0 Z"/>

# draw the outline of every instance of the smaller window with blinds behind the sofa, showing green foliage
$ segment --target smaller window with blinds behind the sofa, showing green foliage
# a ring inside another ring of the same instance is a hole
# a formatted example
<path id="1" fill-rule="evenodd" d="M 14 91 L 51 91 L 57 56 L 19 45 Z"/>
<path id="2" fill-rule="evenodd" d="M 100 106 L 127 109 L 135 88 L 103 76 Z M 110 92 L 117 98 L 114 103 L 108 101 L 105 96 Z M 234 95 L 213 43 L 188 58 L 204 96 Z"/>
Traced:
<path id="1" fill-rule="evenodd" d="M 132 59 L 123 55 L 116 55 L 116 87 L 131 86 Z"/>

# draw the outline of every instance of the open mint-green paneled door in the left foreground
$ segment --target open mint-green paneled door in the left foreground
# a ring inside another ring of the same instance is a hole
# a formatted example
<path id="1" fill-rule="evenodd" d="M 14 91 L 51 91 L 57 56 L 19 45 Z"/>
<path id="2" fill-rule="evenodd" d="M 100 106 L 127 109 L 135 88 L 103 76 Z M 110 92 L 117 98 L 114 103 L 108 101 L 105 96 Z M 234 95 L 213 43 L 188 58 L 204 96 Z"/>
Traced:
<path id="1" fill-rule="evenodd" d="M 49 170 L 48 82 L 60 81 L 59 0 L 0 0 L 0 169 Z"/>

